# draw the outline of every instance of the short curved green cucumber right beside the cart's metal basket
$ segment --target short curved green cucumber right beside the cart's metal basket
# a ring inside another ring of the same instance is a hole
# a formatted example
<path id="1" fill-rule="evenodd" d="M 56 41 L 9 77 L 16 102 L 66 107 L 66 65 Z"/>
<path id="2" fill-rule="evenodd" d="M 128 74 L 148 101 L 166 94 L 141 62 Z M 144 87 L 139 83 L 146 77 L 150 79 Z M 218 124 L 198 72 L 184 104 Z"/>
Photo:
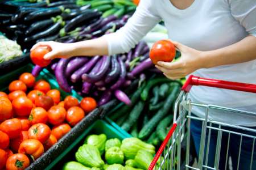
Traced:
<path id="1" fill-rule="evenodd" d="M 158 135 L 158 138 L 161 141 L 164 141 L 164 139 L 166 138 L 166 135 L 168 133 L 167 127 L 172 123 L 173 118 L 174 118 L 173 114 L 168 115 L 166 118 L 160 121 L 160 123 L 156 127 L 156 134 Z"/>

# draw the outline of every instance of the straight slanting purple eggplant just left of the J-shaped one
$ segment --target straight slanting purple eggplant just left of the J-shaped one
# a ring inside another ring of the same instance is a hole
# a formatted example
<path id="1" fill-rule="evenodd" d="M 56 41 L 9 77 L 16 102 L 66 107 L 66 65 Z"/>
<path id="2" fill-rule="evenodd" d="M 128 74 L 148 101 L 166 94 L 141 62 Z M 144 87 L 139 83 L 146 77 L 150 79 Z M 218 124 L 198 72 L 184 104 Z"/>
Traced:
<path id="1" fill-rule="evenodd" d="M 89 62 L 87 62 L 84 66 L 82 66 L 80 69 L 76 70 L 71 75 L 71 82 L 76 83 L 79 80 L 81 80 L 82 74 L 88 73 L 92 69 L 92 67 L 97 63 L 97 61 L 100 59 L 100 56 L 95 56 L 92 59 L 90 59 Z"/>

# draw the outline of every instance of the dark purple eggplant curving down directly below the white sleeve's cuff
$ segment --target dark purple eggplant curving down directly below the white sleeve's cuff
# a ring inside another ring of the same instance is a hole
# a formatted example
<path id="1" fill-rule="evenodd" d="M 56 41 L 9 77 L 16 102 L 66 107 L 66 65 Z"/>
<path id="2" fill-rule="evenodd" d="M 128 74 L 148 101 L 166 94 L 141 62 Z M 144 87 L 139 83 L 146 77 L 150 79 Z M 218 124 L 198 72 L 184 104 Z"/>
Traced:
<path id="1" fill-rule="evenodd" d="M 115 80 L 119 76 L 120 66 L 119 66 L 119 63 L 117 61 L 117 56 L 115 56 L 115 55 L 112 56 L 111 65 L 112 65 L 112 68 L 111 68 L 110 72 L 108 73 L 108 75 L 106 75 L 106 78 L 105 78 L 106 83 L 112 82 L 113 80 Z"/>

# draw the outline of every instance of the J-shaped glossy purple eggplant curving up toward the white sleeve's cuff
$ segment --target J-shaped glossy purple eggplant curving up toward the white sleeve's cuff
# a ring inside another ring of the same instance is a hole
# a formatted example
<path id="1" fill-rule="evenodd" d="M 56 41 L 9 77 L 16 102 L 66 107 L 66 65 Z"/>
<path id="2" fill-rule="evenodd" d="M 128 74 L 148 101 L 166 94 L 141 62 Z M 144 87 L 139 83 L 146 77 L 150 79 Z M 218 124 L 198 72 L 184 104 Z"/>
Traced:
<path id="1" fill-rule="evenodd" d="M 102 65 L 100 67 L 100 70 L 95 74 L 83 74 L 82 80 L 84 80 L 85 82 L 89 82 L 89 83 L 98 82 L 107 73 L 107 71 L 109 69 L 109 65 L 110 65 L 110 57 L 104 56 L 102 58 Z"/>

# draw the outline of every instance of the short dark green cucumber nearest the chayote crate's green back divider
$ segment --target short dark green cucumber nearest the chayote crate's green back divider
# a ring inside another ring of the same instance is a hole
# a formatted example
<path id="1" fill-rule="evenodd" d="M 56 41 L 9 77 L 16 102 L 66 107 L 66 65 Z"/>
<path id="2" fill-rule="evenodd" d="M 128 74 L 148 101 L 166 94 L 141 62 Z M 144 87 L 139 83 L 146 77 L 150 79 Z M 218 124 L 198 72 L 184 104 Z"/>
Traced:
<path id="1" fill-rule="evenodd" d="M 139 101 L 135 107 L 133 108 L 133 110 L 131 111 L 128 119 L 123 123 L 123 125 L 121 126 L 121 128 L 125 131 L 129 131 L 131 129 L 131 126 L 133 126 L 139 116 L 141 115 L 142 111 L 144 108 L 144 102 L 143 101 Z"/>

